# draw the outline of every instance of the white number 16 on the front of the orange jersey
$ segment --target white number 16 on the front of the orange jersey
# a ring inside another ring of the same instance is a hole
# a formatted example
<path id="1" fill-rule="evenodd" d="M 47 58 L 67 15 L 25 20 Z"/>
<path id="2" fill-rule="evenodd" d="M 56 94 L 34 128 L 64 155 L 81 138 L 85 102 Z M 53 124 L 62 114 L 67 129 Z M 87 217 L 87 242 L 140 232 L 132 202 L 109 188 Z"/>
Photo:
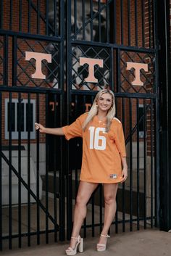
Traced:
<path id="1" fill-rule="evenodd" d="M 90 131 L 90 149 L 99 149 L 99 150 L 106 149 L 106 137 L 99 135 L 101 131 L 105 132 L 106 129 L 102 127 L 95 128 L 94 126 L 90 126 L 89 131 Z"/>

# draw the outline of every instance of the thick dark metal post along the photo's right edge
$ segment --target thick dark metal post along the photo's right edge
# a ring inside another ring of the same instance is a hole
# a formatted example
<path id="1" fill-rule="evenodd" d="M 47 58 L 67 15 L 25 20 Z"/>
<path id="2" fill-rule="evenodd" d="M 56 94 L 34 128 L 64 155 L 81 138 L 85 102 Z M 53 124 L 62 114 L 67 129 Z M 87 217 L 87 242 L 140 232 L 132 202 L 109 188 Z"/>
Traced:
<path id="1" fill-rule="evenodd" d="M 170 1 L 157 1 L 160 94 L 160 227 L 171 229 Z M 161 22 L 162 21 L 162 22 Z"/>

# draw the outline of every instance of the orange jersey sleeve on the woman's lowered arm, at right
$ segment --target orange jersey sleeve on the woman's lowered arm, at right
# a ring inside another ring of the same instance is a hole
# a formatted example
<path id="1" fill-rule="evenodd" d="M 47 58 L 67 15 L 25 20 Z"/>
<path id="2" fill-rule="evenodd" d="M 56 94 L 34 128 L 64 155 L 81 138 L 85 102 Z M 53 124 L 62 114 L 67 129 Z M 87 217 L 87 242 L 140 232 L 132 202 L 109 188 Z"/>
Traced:
<path id="1" fill-rule="evenodd" d="M 117 125 L 117 129 L 115 130 L 115 134 L 114 134 L 114 141 L 118 151 L 120 152 L 121 157 L 126 157 L 125 138 L 124 138 L 124 133 L 122 128 L 122 123 L 119 123 Z"/>

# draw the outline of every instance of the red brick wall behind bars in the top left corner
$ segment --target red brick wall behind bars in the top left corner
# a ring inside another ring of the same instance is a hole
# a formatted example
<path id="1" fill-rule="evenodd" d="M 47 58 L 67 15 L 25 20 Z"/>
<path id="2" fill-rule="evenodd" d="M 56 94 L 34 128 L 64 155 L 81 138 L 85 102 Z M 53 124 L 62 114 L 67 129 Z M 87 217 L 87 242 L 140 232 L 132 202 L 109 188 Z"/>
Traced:
<path id="1" fill-rule="evenodd" d="M 20 31 L 22 33 L 46 34 L 46 1 L 42 0 L 39 4 L 36 0 L 10 0 L 2 1 L 3 8 L 3 29 Z M 21 5 L 20 5 L 21 3 Z M 12 7 L 12 8 L 11 8 Z M 41 15 L 40 18 L 39 14 Z M 40 28 L 38 29 L 38 24 Z"/>

